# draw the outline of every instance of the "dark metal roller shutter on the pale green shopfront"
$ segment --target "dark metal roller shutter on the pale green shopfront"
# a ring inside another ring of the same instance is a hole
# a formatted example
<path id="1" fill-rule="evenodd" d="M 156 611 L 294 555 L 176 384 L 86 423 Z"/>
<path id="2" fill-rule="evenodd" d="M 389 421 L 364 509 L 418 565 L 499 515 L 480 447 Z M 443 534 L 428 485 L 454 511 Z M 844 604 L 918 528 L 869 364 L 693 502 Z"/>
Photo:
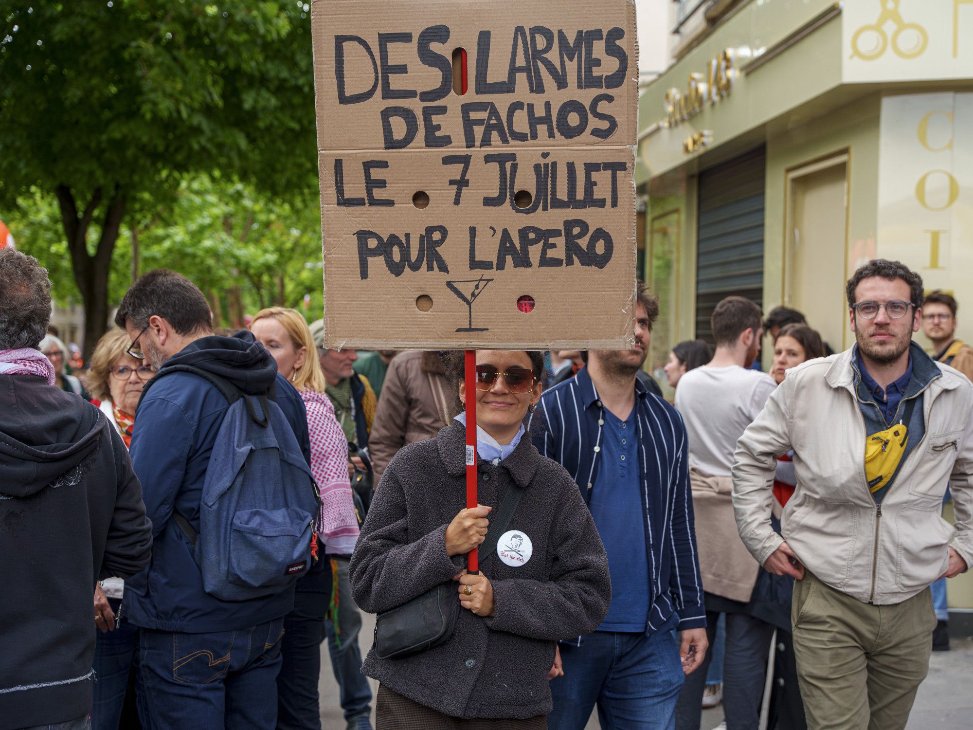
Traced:
<path id="1" fill-rule="evenodd" d="M 700 173 L 696 336 L 710 345 L 709 318 L 724 297 L 763 306 L 765 160 L 759 147 Z"/>

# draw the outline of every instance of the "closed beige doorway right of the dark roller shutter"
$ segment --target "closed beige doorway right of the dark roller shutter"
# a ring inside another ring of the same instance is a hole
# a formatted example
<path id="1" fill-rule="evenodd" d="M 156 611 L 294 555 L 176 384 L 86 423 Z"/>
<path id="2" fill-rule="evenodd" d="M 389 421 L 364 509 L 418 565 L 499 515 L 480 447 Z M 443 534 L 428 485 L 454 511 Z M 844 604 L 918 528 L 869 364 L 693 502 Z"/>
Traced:
<path id="1" fill-rule="evenodd" d="M 784 306 L 847 347 L 847 152 L 786 172 Z"/>

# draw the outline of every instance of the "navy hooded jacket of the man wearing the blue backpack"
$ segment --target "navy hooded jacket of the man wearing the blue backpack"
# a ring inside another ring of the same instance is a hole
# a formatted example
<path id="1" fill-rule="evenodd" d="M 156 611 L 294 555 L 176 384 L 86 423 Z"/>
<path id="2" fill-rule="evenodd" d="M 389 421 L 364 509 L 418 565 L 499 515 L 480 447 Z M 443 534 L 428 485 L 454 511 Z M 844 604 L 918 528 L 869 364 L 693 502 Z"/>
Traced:
<path id="1" fill-rule="evenodd" d="M 277 375 L 270 353 L 249 332 L 203 337 L 163 365 L 146 383 L 135 415 L 131 460 L 142 482 L 156 542 L 152 564 L 126 581 L 126 616 L 135 626 L 200 634 L 235 631 L 288 613 L 294 588 L 251 601 L 221 601 L 205 592 L 193 546 L 172 520 L 178 510 L 199 529 L 199 499 L 209 456 L 230 404 L 216 387 L 193 373 L 166 371 L 192 365 L 234 383 L 251 395 L 276 384 L 276 402 L 310 457 L 304 402 Z"/>

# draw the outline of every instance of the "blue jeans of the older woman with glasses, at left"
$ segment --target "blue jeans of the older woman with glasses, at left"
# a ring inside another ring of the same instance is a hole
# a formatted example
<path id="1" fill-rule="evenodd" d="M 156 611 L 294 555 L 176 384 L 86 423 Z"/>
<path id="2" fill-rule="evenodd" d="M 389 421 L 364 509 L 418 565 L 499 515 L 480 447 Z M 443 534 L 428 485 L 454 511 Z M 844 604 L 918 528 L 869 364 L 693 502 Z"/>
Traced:
<path id="1" fill-rule="evenodd" d="M 119 599 L 108 599 L 115 615 L 118 615 Z M 132 670 L 138 648 L 138 628 L 126 621 L 125 615 L 115 631 L 95 634 L 94 643 L 94 690 L 91 703 L 91 727 L 93 730 L 119 730 L 120 727 L 138 727 L 131 716 L 129 701 L 126 722 L 122 713 L 126 709 L 126 695 L 134 694 Z"/>

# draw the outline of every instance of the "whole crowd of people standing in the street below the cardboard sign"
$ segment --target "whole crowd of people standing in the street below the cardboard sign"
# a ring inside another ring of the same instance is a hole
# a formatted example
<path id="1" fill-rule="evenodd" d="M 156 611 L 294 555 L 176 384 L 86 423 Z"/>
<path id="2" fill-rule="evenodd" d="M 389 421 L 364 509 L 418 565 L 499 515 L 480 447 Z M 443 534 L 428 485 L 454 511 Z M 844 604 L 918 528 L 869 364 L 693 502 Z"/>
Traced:
<path id="1" fill-rule="evenodd" d="M 847 304 L 834 353 L 727 297 L 670 403 L 641 283 L 631 349 L 478 350 L 468 383 L 282 307 L 214 330 L 159 270 L 79 377 L 46 271 L 0 251 L 0 728 L 320 728 L 325 643 L 349 730 L 373 703 L 378 730 L 699 730 L 720 701 L 730 730 L 904 728 L 973 559 L 973 347 L 896 262 Z"/>

